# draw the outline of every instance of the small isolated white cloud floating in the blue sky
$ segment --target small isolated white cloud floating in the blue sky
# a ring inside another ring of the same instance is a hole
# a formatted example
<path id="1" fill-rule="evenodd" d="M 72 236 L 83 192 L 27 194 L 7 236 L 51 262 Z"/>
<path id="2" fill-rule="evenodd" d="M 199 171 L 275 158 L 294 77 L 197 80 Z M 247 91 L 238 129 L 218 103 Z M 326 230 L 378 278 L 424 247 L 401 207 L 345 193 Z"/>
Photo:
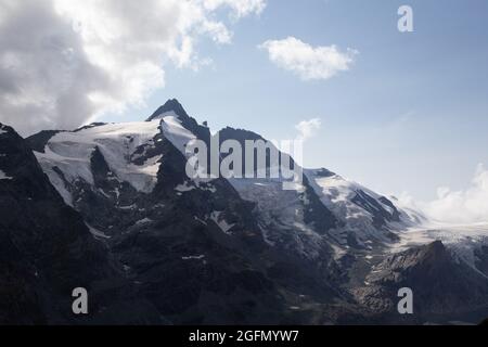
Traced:
<path id="1" fill-rule="evenodd" d="M 336 46 L 314 48 L 294 37 L 268 40 L 259 48 L 268 51 L 272 63 L 295 73 L 303 80 L 329 79 L 339 72 L 348 70 L 358 54 L 351 49 L 342 52 Z"/>

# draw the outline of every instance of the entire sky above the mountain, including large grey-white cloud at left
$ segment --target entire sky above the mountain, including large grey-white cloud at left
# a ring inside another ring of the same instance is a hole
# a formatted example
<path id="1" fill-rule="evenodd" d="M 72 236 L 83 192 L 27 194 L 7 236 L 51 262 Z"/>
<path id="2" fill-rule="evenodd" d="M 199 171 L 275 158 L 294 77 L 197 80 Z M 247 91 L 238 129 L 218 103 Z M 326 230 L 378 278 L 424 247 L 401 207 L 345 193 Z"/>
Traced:
<path id="1" fill-rule="evenodd" d="M 402 4 L 414 33 L 397 29 Z M 488 166 L 486 0 L 0 0 L 0 121 L 22 134 L 140 120 L 177 98 L 214 130 L 268 139 L 320 118 L 306 166 L 385 194 L 432 200 Z M 258 48 L 288 37 L 358 53 L 347 70 L 304 80 Z M 213 63 L 194 70 L 197 57 Z"/>

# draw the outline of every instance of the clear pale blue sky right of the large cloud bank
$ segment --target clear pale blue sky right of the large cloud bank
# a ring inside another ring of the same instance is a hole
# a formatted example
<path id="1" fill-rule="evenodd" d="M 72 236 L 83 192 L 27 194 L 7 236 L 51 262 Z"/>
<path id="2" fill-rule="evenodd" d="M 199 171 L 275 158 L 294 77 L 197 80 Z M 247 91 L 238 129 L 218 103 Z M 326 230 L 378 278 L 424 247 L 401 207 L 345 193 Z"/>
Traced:
<path id="1" fill-rule="evenodd" d="M 441 185 L 465 188 L 476 165 L 488 164 L 488 2 L 365 2 L 269 1 L 259 16 L 235 25 L 231 46 L 201 42 L 211 67 L 168 68 L 166 87 L 126 118 L 140 119 L 175 97 L 213 129 L 290 139 L 295 124 L 319 117 L 322 127 L 305 146 L 307 166 L 421 200 Z M 413 9 L 414 33 L 397 29 L 401 4 Z M 359 54 L 348 72 L 303 81 L 257 49 L 288 36 Z"/>

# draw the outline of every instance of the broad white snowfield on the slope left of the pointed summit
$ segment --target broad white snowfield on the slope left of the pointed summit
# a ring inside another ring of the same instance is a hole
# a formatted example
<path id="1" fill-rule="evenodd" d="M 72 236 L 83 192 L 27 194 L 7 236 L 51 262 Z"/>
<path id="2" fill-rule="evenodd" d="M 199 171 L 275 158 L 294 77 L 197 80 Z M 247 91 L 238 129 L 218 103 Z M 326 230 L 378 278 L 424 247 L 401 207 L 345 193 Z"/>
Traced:
<path id="1" fill-rule="evenodd" d="M 107 124 L 87 128 L 77 132 L 59 132 L 50 139 L 44 153 L 35 152 L 42 169 L 53 185 L 68 203 L 64 182 L 53 171 L 57 167 L 65 179 L 74 183 L 78 179 L 93 184 L 90 159 L 95 147 L 100 149 L 110 169 L 136 190 L 151 192 L 157 181 L 160 156 L 146 159 L 142 165 L 131 163 L 130 158 L 141 145 L 151 145 L 159 132 L 159 121 L 134 121 Z"/>

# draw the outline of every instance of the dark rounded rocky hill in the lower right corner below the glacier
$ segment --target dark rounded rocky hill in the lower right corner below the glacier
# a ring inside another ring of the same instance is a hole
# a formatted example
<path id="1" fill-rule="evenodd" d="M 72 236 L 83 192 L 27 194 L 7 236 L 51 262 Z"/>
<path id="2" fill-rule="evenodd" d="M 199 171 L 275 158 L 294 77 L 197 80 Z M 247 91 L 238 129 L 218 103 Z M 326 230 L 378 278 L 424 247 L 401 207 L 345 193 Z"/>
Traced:
<path id="1" fill-rule="evenodd" d="M 386 320 L 400 320 L 398 290 L 413 292 L 414 319 L 420 322 L 461 320 L 488 310 L 488 279 L 447 249 L 440 241 L 387 257 L 358 288 L 360 300 Z"/>

